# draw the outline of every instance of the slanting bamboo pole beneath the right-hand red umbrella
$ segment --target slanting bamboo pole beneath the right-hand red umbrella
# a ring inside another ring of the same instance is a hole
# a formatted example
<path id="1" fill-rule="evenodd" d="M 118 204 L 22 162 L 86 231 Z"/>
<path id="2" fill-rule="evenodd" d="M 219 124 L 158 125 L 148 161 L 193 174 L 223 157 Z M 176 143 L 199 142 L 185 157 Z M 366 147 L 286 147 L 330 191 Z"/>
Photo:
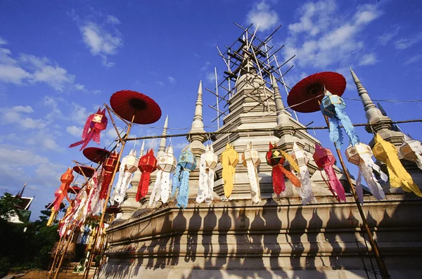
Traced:
<path id="1" fill-rule="evenodd" d="M 324 119 L 326 121 L 327 126 L 330 126 L 330 123 L 328 122 L 328 117 L 326 115 L 324 115 Z M 345 162 L 343 161 L 343 156 L 341 155 L 340 150 L 337 149 L 337 145 L 335 143 L 334 143 L 334 147 L 335 147 L 335 151 L 337 152 L 337 155 L 338 155 L 338 160 L 340 160 L 341 167 L 343 168 L 343 172 L 344 172 L 344 174 L 347 178 L 347 181 L 350 184 L 350 190 L 352 190 L 354 202 L 356 202 L 357 209 L 359 211 L 359 215 L 362 218 L 364 231 L 368 235 L 369 244 L 371 245 L 373 254 L 375 254 L 375 260 L 376 260 L 376 263 L 378 264 L 378 268 L 380 269 L 381 276 L 383 277 L 383 279 L 388 279 L 388 278 L 390 278 L 390 275 L 388 274 L 387 267 L 385 266 L 385 263 L 384 263 L 383 259 L 381 258 L 381 254 L 380 254 L 380 251 L 378 249 L 378 245 L 376 244 L 375 240 L 373 240 L 373 234 L 371 232 L 371 229 L 369 228 L 368 222 L 366 221 L 366 216 L 364 214 L 364 210 L 362 209 L 362 205 L 360 204 L 359 199 L 357 197 L 356 190 L 354 190 L 354 187 L 353 187 L 353 184 L 352 184 L 352 179 L 350 178 L 349 172 L 347 171 L 347 168 L 345 166 Z"/>

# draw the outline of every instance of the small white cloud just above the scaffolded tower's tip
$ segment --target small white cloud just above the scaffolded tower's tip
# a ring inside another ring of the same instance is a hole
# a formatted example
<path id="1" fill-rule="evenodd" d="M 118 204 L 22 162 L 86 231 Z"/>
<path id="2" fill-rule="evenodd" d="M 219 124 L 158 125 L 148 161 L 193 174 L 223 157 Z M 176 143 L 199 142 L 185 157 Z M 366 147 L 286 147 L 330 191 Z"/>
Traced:
<path id="1" fill-rule="evenodd" d="M 255 4 L 246 16 L 246 21 L 250 24 L 260 25 L 258 31 L 266 31 L 275 27 L 279 22 L 279 15 L 271 9 L 264 0 Z"/>

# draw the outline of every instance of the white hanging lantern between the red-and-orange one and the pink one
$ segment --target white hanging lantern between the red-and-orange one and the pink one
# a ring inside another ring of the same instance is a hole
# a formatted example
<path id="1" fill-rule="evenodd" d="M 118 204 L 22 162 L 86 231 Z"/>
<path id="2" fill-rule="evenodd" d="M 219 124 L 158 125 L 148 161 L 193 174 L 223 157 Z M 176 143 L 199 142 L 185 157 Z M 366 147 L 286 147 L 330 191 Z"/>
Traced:
<path id="1" fill-rule="evenodd" d="M 309 177 L 309 170 L 307 164 L 309 163 L 309 153 L 299 148 L 297 143 L 293 143 L 293 151 L 290 156 L 298 164 L 298 179 L 300 181 L 300 197 L 302 197 L 302 205 L 307 205 L 314 199 L 312 192 L 311 179 Z"/>

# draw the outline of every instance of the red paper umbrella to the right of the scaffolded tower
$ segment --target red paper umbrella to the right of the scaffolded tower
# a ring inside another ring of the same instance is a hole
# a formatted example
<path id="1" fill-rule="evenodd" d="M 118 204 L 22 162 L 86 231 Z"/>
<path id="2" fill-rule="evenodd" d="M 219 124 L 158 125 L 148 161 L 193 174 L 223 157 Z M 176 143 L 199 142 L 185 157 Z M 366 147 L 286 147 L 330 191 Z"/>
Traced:
<path id="1" fill-rule="evenodd" d="M 346 79 L 337 72 L 318 72 L 305 77 L 288 93 L 288 106 L 297 112 L 321 110 L 319 103 L 324 98 L 324 86 L 332 94 L 342 96 L 346 89 Z"/>

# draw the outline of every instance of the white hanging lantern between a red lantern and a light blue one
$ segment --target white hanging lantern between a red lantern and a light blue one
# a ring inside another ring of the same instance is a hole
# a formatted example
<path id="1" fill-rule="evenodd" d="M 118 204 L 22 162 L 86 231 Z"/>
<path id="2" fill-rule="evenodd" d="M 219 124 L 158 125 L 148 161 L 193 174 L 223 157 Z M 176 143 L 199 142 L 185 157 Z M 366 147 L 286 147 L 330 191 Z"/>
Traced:
<path id="1" fill-rule="evenodd" d="M 176 157 L 174 157 L 172 145 L 169 145 L 163 155 L 157 158 L 157 176 L 153 192 L 149 200 L 150 207 L 160 200 L 167 202 L 170 196 L 170 174 L 176 169 Z"/>

